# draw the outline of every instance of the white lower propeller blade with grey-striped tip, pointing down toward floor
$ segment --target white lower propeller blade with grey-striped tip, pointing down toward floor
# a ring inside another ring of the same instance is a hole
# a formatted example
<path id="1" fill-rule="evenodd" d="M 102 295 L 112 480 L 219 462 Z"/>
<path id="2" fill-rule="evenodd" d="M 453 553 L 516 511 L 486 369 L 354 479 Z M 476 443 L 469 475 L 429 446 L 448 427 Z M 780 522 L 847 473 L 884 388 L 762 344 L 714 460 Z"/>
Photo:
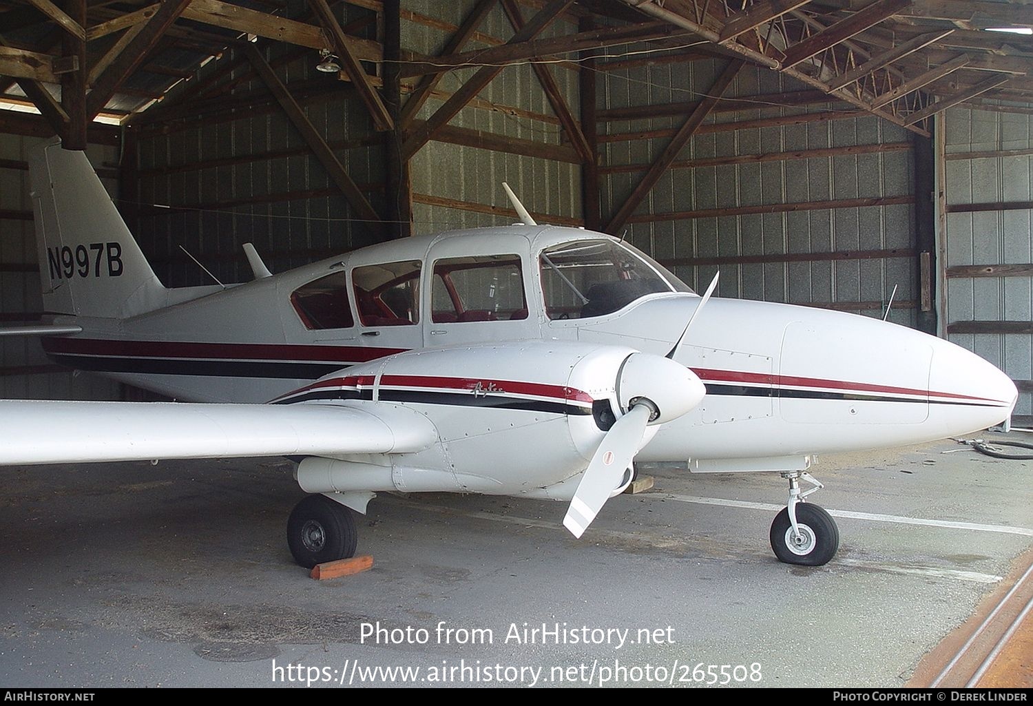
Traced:
<path id="1" fill-rule="evenodd" d="M 648 405 L 636 404 L 603 436 L 563 518 L 563 526 L 574 536 L 585 533 L 631 465 L 651 413 Z"/>

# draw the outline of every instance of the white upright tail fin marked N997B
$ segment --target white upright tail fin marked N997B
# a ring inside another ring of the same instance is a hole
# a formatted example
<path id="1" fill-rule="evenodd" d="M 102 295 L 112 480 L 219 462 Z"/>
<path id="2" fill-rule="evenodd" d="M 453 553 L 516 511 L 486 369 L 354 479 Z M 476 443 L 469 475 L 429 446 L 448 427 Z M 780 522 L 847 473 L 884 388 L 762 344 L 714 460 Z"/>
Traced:
<path id="1" fill-rule="evenodd" d="M 165 304 L 161 285 L 83 152 L 29 156 L 43 309 L 126 317 Z"/>

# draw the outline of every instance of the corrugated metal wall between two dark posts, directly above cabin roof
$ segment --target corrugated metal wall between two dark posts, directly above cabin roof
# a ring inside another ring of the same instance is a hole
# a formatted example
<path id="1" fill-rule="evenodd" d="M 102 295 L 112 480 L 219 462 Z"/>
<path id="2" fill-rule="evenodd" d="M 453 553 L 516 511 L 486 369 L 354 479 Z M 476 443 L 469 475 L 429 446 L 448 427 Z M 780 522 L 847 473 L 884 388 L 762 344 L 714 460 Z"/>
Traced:
<path id="1" fill-rule="evenodd" d="M 406 2 L 405 9 L 458 26 L 474 5 L 475 0 L 449 3 L 422 0 Z M 532 17 L 532 9 L 522 9 L 525 20 Z M 558 20 L 539 37 L 569 33 L 571 30 L 564 22 Z M 500 39 L 508 39 L 513 34 L 512 26 L 501 6 L 496 6 L 488 13 L 479 31 Z M 427 27 L 411 20 L 403 20 L 402 45 L 421 54 L 438 54 L 450 32 L 450 28 Z M 474 38 L 464 51 L 488 45 Z M 556 78 L 570 112 L 576 116 L 580 110 L 577 71 L 561 65 L 550 66 L 549 70 Z M 416 117 L 426 120 L 476 71 L 476 67 L 470 67 L 447 73 L 438 85 L 438 90 L 447 95 L 432 97 Z M 464 108 L 448 124 L 543 145 L 562 143 L 559 121 L 530 64 L 506 66 L 477 97 L 479 100 Z M 411 171 L 415 233 L 512 222 L 511 217 L 420 203 L 430 201 L 422 196 L 431 195 L 508 208 L 502 181 L 507 182 L 524 205 L 533 212 L 568 218 L 582 217 L 580 164 L 432 141 L 412 158 Z"/>

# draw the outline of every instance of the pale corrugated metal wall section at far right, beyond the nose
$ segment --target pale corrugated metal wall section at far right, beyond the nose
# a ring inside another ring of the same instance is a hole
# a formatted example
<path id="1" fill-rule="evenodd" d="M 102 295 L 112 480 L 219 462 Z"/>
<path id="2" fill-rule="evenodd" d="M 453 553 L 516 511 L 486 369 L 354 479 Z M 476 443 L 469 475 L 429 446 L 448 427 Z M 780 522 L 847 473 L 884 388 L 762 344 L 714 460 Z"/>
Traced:
<path id="1" fill-rule="evenodd" d="M 946 211 L 941 330 L 1016 380 L 1023 392 L 1015 413 L 1033 415 L 1033 116 L 954 108 L 940 124 Z M 995 267 L 1000 265 L 1027 267 Z M 1026 333 L 1003 332 L 1024 326 Z"/>

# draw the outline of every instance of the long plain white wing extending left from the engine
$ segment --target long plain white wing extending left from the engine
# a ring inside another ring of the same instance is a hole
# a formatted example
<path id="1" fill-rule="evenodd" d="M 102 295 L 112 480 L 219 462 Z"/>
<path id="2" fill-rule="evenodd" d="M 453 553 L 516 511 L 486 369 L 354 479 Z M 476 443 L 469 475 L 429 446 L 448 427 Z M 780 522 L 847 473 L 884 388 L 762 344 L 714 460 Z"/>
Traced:
<path id="1" fill-rule="evenodd" d="M 426 417 L 378 402 L 193 404 L 0 401 L 0 464 L 405 453 Z"/>

